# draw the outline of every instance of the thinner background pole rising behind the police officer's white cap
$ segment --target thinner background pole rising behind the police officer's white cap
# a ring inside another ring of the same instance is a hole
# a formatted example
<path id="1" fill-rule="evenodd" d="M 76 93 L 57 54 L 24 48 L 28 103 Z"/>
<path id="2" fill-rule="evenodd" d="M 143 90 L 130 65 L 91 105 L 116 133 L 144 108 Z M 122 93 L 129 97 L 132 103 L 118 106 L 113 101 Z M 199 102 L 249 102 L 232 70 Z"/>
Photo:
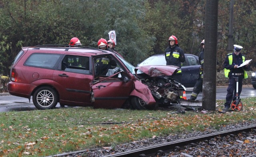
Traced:
<path id="1" fill-rule="evenodd" d="M 227 51 L 232 51 L 234 48 L 233 44 L 233 21 L 234 21 L 234 0 L 230 0 L 229 8 L 229 26 L 228 26 L 228 49 Z"/>

